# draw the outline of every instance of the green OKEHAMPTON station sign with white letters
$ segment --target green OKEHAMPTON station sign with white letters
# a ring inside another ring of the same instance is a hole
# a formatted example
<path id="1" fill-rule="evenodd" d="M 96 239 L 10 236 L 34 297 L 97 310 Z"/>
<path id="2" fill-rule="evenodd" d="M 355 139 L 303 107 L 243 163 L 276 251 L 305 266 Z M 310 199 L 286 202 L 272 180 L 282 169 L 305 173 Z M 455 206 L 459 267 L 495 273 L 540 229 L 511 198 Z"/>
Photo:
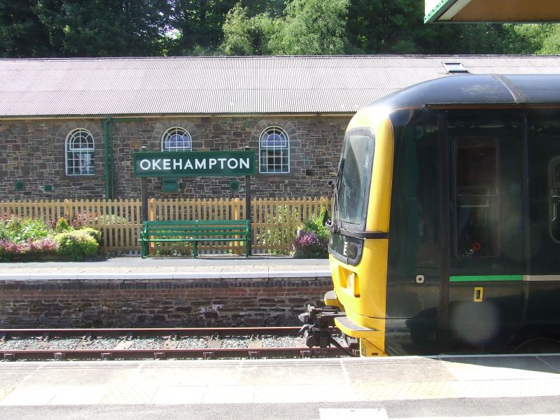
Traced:
<path id="1" fill-rule="evenodd" d="M 134 153 L 134 176 L 246 176 L 255 174 L 255 152 Z"/>

